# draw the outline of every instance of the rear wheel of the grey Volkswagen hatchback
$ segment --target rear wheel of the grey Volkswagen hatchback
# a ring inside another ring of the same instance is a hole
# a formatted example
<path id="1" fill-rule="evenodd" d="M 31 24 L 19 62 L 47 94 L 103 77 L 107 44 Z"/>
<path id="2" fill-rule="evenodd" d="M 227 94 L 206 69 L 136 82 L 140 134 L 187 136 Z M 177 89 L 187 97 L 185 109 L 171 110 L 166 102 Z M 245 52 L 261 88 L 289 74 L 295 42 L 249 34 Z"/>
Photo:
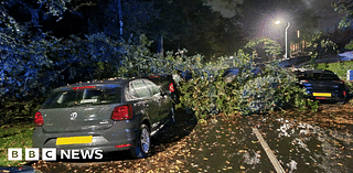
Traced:
<path id="1" fill-rule="evenodd" d="M 130 150 L 133 158 L 147 158 L 150 151 L 150 130 L 146 125 L 141 125 L 138 134 L 138 143 Z"/>

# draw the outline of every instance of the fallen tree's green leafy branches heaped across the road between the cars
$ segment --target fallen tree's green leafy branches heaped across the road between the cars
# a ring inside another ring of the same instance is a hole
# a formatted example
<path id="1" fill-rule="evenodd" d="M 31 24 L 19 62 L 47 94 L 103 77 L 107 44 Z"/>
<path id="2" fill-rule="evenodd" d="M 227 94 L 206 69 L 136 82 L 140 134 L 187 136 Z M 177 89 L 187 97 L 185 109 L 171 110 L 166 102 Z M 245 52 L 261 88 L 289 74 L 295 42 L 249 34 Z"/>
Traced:
<path id="1" fill-rule="evenodd" d="M 232 116 L 287 108 L 318 109 L 318 104 L 307 98 L 306 90 L 298 86 L 291 72 L 275 63 L 260 67 L 261 73 L 254 74 L 254 69 L 259 68 L 258 65 L 237 62 L 235 67 L 239 68 L 239 73 L 231 83 L 222 77 L 222 67 L 218 68 L 216 78 L 204 72 L 202 76 L 183 82 L 180 87 L 181 105 L 191 108 L 201 119 L 210 118 L 216 112 Z"/>

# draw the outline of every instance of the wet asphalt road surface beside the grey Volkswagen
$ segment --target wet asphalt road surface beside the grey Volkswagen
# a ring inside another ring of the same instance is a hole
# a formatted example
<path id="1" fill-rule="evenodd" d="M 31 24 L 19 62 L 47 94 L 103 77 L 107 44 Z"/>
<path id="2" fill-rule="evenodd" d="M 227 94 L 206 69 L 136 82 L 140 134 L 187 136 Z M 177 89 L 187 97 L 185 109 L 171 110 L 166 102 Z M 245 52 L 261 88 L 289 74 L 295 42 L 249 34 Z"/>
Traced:
<path id="1" fill-rule="evenodd" d="M 341 107 L 323 109 L 334 112 Z M 352 125 L 331 126 L 328 121 L 324 126 L 318 121 L 280 117 L 286 116 L 218 116 L 197 123 L 192 115 L 179 111 L 176 123 L 162 129 L 152 139 L 152 151 L 147 159 L 131 159 L 127 152 L 116 152 L 105 155 L 103 161 L 40 161 L 30 165 L 42 172 L 258 173 L 277 172 L 274 163 L 277 160 L 277 166 L 285 172 L 353 172 Z M 267 149 L 254 129 L 267 143 Z M 270 159 L 268 152 L 274 158 Z"/>

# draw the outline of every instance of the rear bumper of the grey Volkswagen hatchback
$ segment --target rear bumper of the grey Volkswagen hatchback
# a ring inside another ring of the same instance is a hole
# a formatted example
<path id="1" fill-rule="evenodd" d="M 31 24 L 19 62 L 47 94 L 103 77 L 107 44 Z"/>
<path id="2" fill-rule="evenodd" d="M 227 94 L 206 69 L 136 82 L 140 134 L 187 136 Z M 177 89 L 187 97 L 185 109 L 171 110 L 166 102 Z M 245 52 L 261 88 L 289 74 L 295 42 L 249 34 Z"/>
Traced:
<path id="1" fill-rule="evenodd" d="M 109 129 L 77 132 L 46 132 L 43 128 L 35 128 L 32 139 L 33 148 L 55 148 L 61 150 L 103 150 L 103 152 L 128 150 L 136 147 L 138 128 L 131 123 L 117 122 Z M 56 144 L 58 138 L 92 137 L 89 143 Z"/>

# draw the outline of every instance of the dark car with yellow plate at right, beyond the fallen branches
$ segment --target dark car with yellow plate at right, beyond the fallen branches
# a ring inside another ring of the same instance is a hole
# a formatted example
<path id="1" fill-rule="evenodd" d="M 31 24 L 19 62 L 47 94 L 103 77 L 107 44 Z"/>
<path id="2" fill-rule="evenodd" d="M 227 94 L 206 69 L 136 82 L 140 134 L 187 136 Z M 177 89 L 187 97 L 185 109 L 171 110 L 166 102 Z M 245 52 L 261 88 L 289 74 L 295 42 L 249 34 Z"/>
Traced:
<path id="1" fill-rule="evenodd" d="M 310 69 L 296 72 L 299 85 L 307 89 L 309 97 L 320 102 L 344 104 L 349 89 L 344 82 L 331 71 Z"/>

